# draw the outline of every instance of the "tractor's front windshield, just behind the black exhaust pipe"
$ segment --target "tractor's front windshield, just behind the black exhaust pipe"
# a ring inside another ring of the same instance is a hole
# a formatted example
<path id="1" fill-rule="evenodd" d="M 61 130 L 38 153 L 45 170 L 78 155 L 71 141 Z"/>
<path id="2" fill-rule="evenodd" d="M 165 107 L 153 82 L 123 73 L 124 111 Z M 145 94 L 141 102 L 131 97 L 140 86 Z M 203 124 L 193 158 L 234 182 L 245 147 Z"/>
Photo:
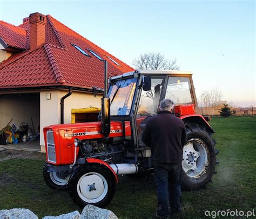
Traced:
<path id="1" fill-rule="evenodd" d="M 136 89 L 137 78 L 115 81 L 110 84 L 110 115 L 129 115 L 134 91 Z"/>

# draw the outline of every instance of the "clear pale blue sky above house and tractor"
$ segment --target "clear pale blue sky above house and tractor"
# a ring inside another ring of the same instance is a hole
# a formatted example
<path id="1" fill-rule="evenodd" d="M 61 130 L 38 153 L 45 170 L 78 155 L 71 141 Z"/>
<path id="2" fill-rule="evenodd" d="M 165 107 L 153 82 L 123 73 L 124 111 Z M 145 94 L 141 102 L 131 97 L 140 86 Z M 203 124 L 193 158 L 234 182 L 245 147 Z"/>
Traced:
<path id="1" fill-rule="evenodd" d="M 51 15 L 120 60 L 161 52 L 193 72 L 199 96 L 256 107 L 255 1 L 4 1 L 0 20 L 19 25 L 30 13 Z"/>

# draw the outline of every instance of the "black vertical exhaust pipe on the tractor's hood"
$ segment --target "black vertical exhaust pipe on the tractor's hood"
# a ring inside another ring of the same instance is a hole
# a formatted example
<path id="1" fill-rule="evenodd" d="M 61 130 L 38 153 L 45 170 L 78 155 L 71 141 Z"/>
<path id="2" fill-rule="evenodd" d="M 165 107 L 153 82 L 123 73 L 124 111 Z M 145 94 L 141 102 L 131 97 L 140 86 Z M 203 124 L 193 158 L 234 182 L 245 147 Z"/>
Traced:
<path id="1" fill-rule="evenodd" d="M 110 98 L 107 95 L 107 61 L 104 60 L 104 97 L 102 97 L 102 132 L 105 138 L 110 133 Z"/>

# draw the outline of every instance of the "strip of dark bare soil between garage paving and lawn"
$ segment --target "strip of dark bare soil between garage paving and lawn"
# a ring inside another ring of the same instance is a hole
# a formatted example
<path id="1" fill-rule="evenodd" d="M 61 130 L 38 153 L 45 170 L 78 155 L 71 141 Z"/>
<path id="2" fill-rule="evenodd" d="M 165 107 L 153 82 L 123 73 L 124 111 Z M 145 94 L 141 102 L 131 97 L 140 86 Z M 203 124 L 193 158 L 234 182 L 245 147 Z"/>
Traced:
<path id="1" fill-rule="evenodd" d="M 45 153 L 40 152 L 30 152 L 30 151 L 17 151 L 17 150 L 2 150 L 0 148 L 0 162 L 4 160 L 9 160 L 13 158 L 22 158 L 22 159 L 44 159 Z"/>

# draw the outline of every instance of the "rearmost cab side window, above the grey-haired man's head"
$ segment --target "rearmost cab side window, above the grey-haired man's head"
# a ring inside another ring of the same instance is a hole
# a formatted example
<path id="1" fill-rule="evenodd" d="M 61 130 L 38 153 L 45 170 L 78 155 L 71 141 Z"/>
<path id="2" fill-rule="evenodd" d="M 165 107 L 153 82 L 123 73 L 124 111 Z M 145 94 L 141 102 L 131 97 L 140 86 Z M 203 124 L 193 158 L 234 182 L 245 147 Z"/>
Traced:
<path id="1" fill-rule="evenodd" d="M 192 88 L 189 77 L 169 77 L 165 98 L 172 100 L 176 105 L 193 103 Z"/>

